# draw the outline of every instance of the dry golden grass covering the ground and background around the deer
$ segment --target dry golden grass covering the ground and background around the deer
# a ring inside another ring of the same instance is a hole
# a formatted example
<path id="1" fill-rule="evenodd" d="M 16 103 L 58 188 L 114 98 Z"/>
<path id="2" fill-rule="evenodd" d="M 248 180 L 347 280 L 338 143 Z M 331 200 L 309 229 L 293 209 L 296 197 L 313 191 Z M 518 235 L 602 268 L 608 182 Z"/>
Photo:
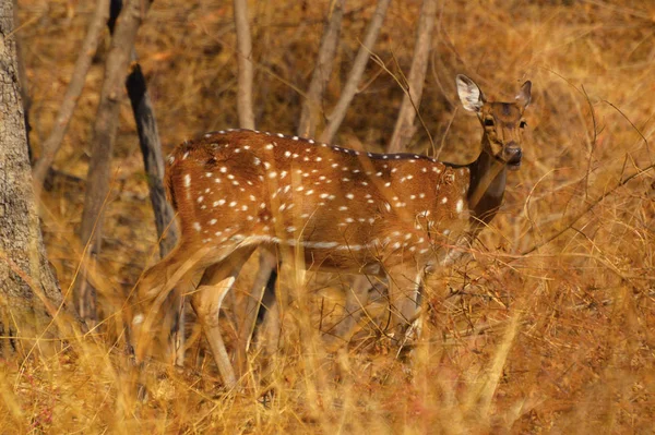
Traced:
<path id="1" fill-rule="evenodd" d="M 31 137 L 38 153 L 92 4 L 20 3 L 34 98 Z M 326 3 L 251 3 L 261 130 L 294 132 L 298 89 L 307 86 L 313 68 Z M 405 0 L 390 9 L 376 53 L 392 71 L 397 72 L 395 59 L 407 72 L 419 5 Z M 326 108 L 338 97 L 372 7 L 372 0 L 348 2 Z M 342 279 L 298 277 L 289 269 L 283 286 L 307 290 L 310 298 L 295 302 L 300 310 L 289 310 L 285 345 L 275 358 L 264 362 L 252 354 L 243 392 L 222 389 L 211 358 L 195 343 L 181 373 L 151 364 L 150 400 L 135 402 L 124 386 L 129 363 L 122 302 L 157 249 L 126 98 L 99 270 L 107 321 L 102 333 L 71 338 L 55 357 L 1 362 L 0 432 L 652 431 L 654 171 L 617 185 L 655 159 L 650 144 L 655 7 L 638 0 L 478 0 L 440 2 L 440 8 L 420 107 L 437 148 L 443 137 L 440 158 L 465 162 L 478 149 L 477 122 L 456 109 L 456 73 L 469 74 L 499 96 L 511 96 L 529 78 L 534 97 L 524 164 L 510 176 L 502 214 L 483 233 L 475 261 L 428 283 L 424 338 L 412 362 L 398 360 L 374 336 L 326 353 L 315 326 L 331 322 L 331 310 L 338 312 L 335 303 L 343 303 L 343 293 L 334 288 Z M 165 150 L 205 131 L 236 125 L 234 46 L 230 2 L 154 3 L 138 51 Z M 103 52 L 56 161 L 58 170 L 81 179 Z M 379 150 L 391 136 L 402 92 L 374 64 L 366 83 L 337 142 Z M 413 147 L 431 149 L 427 137 L 419 132 Z M 44 195 L 44 230 L 66 290 L 80 259 L 75 230 L 83 183 L 57 180 Z M 255 262 L 250 265 L 240 291 L 248 288 Z"/>

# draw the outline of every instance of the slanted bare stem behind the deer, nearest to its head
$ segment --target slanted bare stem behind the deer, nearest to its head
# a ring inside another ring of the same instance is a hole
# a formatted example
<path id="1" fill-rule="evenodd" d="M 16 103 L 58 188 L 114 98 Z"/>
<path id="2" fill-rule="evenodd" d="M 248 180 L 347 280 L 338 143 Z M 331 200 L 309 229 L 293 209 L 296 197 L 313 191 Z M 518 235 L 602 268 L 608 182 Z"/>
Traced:
<path id="1" fill-rule="evenodd" d="M 414 59 L 412 60 L 409 77 L 407 78 L 408 89 L 406 89 L 405 96 L 403 97 L 393 135 L 389 142 L 389 153 L 398 153 L 404 149 L 416 130 L 414 126 L 414 119 L 416 118 L 416 110 L 420 105 L 420 98 L 422 96 L 428 59 L 432 46 L 432 29 L 434 28 L 436 16 L 437 0 L 424 0 L 418 19 Z"/>

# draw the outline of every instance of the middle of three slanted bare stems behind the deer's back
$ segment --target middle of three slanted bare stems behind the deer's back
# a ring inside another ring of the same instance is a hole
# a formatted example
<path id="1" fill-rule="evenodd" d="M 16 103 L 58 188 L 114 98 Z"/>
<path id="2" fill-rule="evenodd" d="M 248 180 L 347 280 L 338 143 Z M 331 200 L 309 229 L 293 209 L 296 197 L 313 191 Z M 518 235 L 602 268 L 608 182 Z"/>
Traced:
<path id="1" fill-rule="evenodd" d="M 357 94 L 357 86 L 359 85 L 361 76 L 364 75 L 364 70 L 366 69 L 368 60 L 371 56 L 371 50 L 376 45 L 378 35 L 380 34 L 380 28 L 382 28 L 382 23 L 384 22 L 389 3 L 391 3 L 391 0 L 378 1 L 378 5 L 376 7 L 373 16 L 371 16 L 371 21 L 369 22 L 366 36 L 364 37 L 361 47 L 359 47 L 355 62 L 353 62 L 353 69 L 348 74 L 348 78 L 346 80 L 346 84 L 342 90 L 338 102 L 334 107 L 332 113 L 327 117 L 330 122 L 321 134 L 321 142 L 332 142 L 334 135 L 341 126 L 342 121 L 344 120 L 344 117 L 346 116 L 346 111 L 348 110 L 348 106 L 350 106 L 350 101 L 353 101 L 353 97 L 355 97 L 355 94 Z"/>

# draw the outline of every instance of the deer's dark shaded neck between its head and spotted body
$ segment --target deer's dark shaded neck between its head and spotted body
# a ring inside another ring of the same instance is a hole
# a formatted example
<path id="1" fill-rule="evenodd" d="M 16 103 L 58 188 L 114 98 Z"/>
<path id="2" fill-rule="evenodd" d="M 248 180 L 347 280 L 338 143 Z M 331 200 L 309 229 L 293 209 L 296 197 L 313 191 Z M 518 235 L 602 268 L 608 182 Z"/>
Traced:
<path id="1" fill-rule="evenodd" d="M 481 230 L 498 213 L 502 203 L 508 176 L 507 165 L 487 152 L 489 144 L 483 138 L 483 152 L 468 165 L 471 184 L 468 188 L 468 208 L 472 212 L 473 232 Z"/>

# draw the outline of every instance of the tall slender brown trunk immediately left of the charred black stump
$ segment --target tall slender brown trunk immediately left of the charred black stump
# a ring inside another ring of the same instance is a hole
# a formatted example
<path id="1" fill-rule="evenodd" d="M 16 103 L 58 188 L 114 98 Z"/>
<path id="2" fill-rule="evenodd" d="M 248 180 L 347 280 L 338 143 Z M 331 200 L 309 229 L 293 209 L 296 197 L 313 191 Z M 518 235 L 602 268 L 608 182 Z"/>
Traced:
<path id="1" fill-rule="evenodd" d="M 111 39 L 111 48 L 105 64 L 105 81 L 95 119 L 84 212 L 80 228 L 82 243 L 90 244 L 87 255 L 91 257 L 91 263 L 97 258 L 102 247 L 102 212 L 109 193 L 111 155 L 118 129 L 118 111 L 124 83 L 123 77 L 128 70 L 136 32 L 151 3 L 152 1 L 141 0 L 131 0 L 127 3 L 116 25 L 116 33 Z M 84 262 L 85 270 L 91 264 L 88 258 L 85 258 Z M 97 322 L 95 290 L 85 279 L 85 275 L 82 274 L 75 287 L 75 305 L 82 318 L 87 324 L 93 325 Z"/>

